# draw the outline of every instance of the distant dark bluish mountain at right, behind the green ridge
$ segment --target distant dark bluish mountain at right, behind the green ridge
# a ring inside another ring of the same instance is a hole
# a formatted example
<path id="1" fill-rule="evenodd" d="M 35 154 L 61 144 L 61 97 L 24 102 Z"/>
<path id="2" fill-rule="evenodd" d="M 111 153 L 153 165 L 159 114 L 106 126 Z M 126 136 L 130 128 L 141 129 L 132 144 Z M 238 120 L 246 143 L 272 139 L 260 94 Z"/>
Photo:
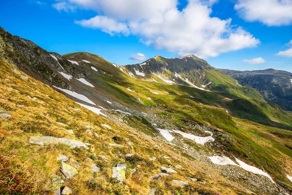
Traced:
<path id="1" fill-rule="evenodd" d="M 274 69 L 257 71 L 234 71 L 219 69 L 244 85 L 255 88 L 271 103 L 283 110 L 292 111 L 292 73 Z"/>

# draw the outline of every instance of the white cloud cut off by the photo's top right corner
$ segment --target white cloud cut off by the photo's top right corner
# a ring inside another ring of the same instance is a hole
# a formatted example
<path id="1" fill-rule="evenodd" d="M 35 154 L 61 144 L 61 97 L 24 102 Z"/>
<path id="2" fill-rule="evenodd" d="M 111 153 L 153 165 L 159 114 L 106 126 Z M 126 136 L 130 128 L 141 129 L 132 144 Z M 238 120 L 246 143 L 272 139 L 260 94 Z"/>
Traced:
<path id="1" fill-rule="evenodd" d="M 292 24 L 292 0 L 237 0 L 234 8 L 247 21 L 268 26 Z"/>

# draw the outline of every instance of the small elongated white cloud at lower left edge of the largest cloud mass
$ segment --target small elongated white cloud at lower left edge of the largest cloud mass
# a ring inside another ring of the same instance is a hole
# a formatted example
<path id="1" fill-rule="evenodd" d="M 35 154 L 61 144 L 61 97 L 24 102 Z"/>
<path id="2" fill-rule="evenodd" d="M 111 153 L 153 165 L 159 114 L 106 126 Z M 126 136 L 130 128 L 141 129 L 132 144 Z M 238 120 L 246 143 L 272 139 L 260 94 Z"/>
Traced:
<path id="1" fill-rule="evenodd" d="M 90 20 L 79 20 L 75 21 L 75 23 L 84 27 L 99 28 L 111 36 L 116 34 L 123 34 L 128 36 L 130 34 L 130 30 L 128 29 L 126 23 L 117 22 L 116 20 L 108 18 L 107 16 L 95 16 Z"/>

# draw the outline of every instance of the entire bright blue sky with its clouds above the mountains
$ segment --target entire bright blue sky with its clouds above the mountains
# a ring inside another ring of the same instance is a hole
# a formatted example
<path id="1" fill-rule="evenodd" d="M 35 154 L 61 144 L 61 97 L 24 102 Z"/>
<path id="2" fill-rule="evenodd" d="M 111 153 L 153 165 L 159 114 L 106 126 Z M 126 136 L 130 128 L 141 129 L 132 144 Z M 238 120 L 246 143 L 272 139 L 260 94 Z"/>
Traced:
<path id="1" fill-rule="evenodd" d="M 119 1 L 1 1 L 0 26 L 48 51 L 119 65 L 194 54 L 216 68 L 292 72 L 292 1 Z"/>

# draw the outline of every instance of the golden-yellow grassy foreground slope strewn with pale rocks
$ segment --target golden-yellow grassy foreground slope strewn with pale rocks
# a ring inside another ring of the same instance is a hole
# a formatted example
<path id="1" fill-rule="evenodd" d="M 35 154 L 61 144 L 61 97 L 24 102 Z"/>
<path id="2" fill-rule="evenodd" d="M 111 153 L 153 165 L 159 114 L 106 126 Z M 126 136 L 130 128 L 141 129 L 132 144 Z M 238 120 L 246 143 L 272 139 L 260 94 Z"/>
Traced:
<path id="1" fill-rule="evenodd" d="M 150 183 L 157 189 L 157 194 L 171 194 L 172 191 L 186 195 L 198 193 L 215 195 L 216 192 L 243 194 L 215 172 L 208 176 L 196 171 L 194 167 L 186 166 L 183 160 L 194 166 L 204 165 L 178 155 L 171 146 L 149 139 L 128 126 L 117 125 L 104 117 L 97 116 L 31 77 L 28 81 L 21 79 L 19 74 L 13 73 L 11 66 L 2 61 L 0 66 L 0 110 L 6 110 L 12 115 L 9 119 L 0 118 L 0 193 L 39 194 L 41 191 L 50 190 L 49 177 L 52 174 L 62 176 L 59 171 L 60 162 L 56 161 L 56 157 L 64 154 L 82 162 L 78 175 L 66 179 L 64 183 L 73 189 L 74 194 L 126 195 L 138 194 L 138 192 L 142 195 L 147 194 L 150 190 L 148 178 L 160 172 L 159 166 L 176 164 L 183 166 L 176 169 L 179 174 Z M 37 100 L 27 96 L 35 97 Z M 22 104 L 24 107 L 17 107 L 17 104 Z M 69 106 L 79 108 L 80 112 L 74 111 Z M 56 122 L 63 122 L 68 126 L 58 126 Z M 110 125 L 112 130 L 102 127 L 102 124 Z M 92 131 L 98 136 L 92 137 L 87 134 L 86 125 L 93 126 L 95 129 Z M 141 126 L 141 124 L 136 125 Z M 66 133 L 65 129 L 73 129 L 74 135 Z M 133 136 L 130 136 L 132 134 Z M 94 145 L 97 155 L 104 155 L 109 159 L 104 161 L 88 151 L 70 149 L 62 144 L 32 145 L 28 142 L 30 136 L 64 137 L 88 142 Z M 127 141 L 132 143 L 132 147 L 127 146 Z M 109 147 L 109 143 L 123 144 L 125 148 Z M 163 144 L 163 147 L 155 148 L 152 144 Z M 124 155 L 128 153 L 135 156 L 126 159 Z M 158 160 L 150 161 L 150 156 L 156 156 Z M 165 160 L 159 156 L 171 156 L 171 159 Z M 83 162 L 86 157 L 90 157 L 102 172 L 94 174 L 91 178 L 90 164 Z M 117 163 L 126 163 L 128 168 L 141 171 L 142 179 L 139 179 L 139 176 L 131 176 L 129 171 L 126 174 L 125 185 L 111 179 L 111 166 Z M 141 167 L 137 168 L 136 165 Z M 186 176 L 203 179 L 206 184 L 190 182 L 187 188 L 181 188 L 171 183 L 173 179 L 185 180 Z M 212 182 L 215 182 L 215 185 L 212 185 Z M 227 191 L 226 187 L 230 190 Z"/>

